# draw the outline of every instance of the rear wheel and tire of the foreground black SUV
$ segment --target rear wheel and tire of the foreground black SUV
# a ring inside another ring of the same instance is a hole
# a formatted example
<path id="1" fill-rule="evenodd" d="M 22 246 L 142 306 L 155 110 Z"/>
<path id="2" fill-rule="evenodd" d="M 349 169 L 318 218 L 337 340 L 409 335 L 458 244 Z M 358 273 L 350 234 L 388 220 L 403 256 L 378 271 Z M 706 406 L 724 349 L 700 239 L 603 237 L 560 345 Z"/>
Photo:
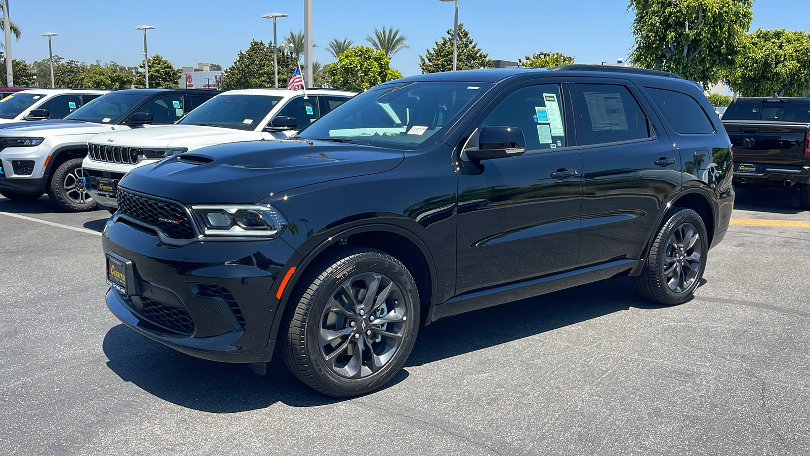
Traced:
<path id="1" fill-rule="evenodd" d="M 671 209 L 664 220 L 642 273 L 630 281 L 642 298 L 673 306 L 690 299 L 700 284 L 709 236 L 703 219 L 692 209 Z M 696 234 L 697 239 L 691 240 Z"/>

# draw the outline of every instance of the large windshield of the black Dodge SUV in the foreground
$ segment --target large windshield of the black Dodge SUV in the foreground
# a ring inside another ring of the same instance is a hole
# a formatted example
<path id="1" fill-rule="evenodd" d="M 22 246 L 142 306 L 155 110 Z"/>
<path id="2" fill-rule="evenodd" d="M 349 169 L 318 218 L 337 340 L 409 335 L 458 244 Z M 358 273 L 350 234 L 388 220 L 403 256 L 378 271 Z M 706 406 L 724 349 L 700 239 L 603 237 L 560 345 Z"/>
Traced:
<path id="1" fill-rule="evenodd" d="M 311 124 L 306 140 L 349 140 L 385 148 L 424 148 L 494 84 L 386 84 L 352 98 Z"/>

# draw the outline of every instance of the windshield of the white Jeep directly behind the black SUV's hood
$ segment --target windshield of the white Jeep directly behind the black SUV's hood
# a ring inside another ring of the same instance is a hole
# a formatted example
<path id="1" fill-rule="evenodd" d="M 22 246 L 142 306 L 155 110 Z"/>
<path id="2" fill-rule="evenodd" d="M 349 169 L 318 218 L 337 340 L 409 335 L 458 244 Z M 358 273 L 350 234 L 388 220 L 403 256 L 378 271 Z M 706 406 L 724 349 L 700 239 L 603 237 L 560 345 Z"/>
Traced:
<path id="1" fill-rule="evenodd" d="M 253 131 L 279 101 L 281 97 L 266 95 L 219 95 L 186 114 L 179 123 Z"/>

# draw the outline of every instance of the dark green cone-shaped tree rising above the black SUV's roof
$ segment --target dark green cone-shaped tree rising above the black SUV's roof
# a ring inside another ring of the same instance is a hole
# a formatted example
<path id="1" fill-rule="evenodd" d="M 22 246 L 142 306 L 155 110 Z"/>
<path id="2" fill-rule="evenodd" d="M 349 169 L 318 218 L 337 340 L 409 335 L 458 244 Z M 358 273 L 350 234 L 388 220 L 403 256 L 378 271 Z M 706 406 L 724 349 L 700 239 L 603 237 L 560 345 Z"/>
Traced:
<path id="1" fill-rule="evenodd" d="M 439 71 L 453 70 L 453 29 L 447 30 L 447 37 L 441 37 L 441 41 L 436 41 L 433 51 L 427 49 L 425 57 L 419 56 L 419 67 L 423 73 L 437 73 Z M 458 24 L 458 50 L 456 58 L 456 68 L 458 70 L 477 70 L 479 68 L 492 68 L 492 60 L 489 54 L 479 49 L 475 41 L 472 41 L 470 32 L 464 28 L 464 24 Z"/>

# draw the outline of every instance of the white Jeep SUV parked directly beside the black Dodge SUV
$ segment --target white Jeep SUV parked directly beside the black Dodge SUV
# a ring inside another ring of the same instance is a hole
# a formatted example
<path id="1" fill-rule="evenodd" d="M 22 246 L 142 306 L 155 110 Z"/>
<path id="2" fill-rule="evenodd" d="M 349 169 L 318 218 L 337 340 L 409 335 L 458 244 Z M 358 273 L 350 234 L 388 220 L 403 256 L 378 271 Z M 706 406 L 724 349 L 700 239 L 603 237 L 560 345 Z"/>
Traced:
<path id="1" fill-rule="evenodd" d="M 118 181 L 135 167 L 215 144 L 283 139 L 341 105 L 356 92 L 249 88 L 220 93 L 174 125 L 108 131 L 87 141 L 82 163 L 87 191 L 110 212 Z"/>

